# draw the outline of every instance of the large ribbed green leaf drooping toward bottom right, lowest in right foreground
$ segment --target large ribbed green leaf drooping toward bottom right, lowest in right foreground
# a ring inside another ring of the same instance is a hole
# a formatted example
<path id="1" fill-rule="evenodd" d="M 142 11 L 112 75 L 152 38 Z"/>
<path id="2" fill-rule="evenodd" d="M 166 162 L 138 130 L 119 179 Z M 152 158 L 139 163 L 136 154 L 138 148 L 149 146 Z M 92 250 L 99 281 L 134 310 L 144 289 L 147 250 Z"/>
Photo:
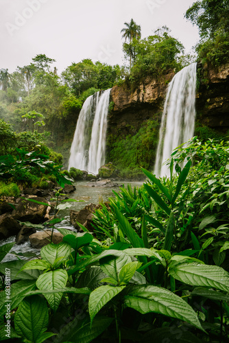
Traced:
<path id="1" fill-rule="evenodd" d="M 194 327 L 203 330 L 192 307 L 168 289 L 152 285 L 134 286 L 124 298 L 125 306 L 132 307 L 141 314 L 149 312 L 163 314 L 189 322 Z"/>

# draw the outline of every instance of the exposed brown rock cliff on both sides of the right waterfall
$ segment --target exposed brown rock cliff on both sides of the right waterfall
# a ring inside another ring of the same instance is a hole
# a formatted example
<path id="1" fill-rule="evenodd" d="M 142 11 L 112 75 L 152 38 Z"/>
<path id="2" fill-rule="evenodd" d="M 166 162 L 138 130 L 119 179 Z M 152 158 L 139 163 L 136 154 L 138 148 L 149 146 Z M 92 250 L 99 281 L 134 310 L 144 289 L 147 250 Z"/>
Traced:
<path id="1" fill-rule="evenodd" d="M 110 93 L 114 106 L 108 117 L 108 134 L 134 134 L 143 121 L 160 121 L 167 84 L 173 76 L 173 71 L 169 71 L 160 82 L 147 78 L 134 91 L 127 86 L 114 86 Z M 229 130 L 229 64 L 219 69 L 197 64 L 197 78 L 197 120 L 216 130 Z"/>

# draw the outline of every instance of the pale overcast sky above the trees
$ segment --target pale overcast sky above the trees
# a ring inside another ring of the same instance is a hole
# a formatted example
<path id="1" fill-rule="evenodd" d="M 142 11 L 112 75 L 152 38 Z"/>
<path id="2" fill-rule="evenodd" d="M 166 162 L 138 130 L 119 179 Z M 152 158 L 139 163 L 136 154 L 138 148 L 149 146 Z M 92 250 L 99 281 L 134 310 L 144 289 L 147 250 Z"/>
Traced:
<path id="1" fill-rule="evenodd" d="M 91 58 L 123 64 L 121 29 L 134 19 L 145 38 L 167 25 L 186 48 L 199 40 L 184 19 L 194 0 L 0 0 L 0 69 L 10 73 L 37 54 L 54 58 L 60 74 Z"/>

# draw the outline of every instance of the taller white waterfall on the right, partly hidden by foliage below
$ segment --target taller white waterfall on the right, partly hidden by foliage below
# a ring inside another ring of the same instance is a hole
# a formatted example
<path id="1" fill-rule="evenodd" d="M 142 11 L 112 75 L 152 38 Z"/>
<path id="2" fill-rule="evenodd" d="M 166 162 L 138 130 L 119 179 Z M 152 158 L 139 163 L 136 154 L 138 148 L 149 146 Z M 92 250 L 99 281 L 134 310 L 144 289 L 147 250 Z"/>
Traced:
<path id="1" fill-rule="evenodd" d="M 184 67 L 169 83 L 159 132 L 154 173 L 169 176 L 163 165 L 173 149 L 189 141 L 195 128 L 196 63 Z"/>

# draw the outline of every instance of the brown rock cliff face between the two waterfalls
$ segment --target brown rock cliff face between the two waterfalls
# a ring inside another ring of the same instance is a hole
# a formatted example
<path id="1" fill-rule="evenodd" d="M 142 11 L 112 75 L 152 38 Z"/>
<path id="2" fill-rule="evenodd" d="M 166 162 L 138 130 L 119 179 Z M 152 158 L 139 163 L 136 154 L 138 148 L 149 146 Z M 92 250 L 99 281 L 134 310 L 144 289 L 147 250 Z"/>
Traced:
<path id="1" fill-rule="evenodd" d="M 114 86 L 110 92 L 114 107 L 108 117 L 108 132 L 134 134 L 143 121 L 151 118 L 160 120 L 167 84 L 173 76 L 173 71 L 169 71 L 160 82 L 147 78 L 134 91 L 126 85 Z"/>

